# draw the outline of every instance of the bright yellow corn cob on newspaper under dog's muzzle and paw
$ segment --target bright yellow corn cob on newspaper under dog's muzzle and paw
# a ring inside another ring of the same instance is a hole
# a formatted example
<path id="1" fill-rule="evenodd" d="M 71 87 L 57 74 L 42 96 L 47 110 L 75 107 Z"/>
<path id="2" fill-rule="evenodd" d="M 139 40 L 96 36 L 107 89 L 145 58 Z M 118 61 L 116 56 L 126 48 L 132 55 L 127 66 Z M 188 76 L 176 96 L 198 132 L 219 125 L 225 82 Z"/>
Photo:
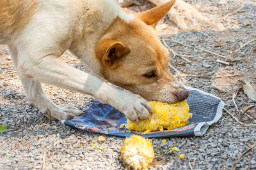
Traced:
<path id="1" fill-rule="evenodd" d="M 154 114 L 150 115 L 151 120 L 140 120 L 138 124 L 127 120 L 126 127 L 130 131 L 133 130 L 148 134 L 151 131 L 172 130 L 188 125 L 188 119 L 192 117 L 186 101 L 175 104 L 167 104 L 159 101 L 150 101 L 149 103 L 154 109 Z"/>

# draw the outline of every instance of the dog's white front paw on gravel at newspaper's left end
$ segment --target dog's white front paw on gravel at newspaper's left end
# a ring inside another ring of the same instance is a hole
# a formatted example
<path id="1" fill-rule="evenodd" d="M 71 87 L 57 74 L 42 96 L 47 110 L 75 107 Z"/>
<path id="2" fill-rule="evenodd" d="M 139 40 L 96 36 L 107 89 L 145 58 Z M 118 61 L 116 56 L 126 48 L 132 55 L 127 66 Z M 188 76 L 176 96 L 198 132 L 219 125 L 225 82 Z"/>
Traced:
<path id="1" fill-rule="evenodd" d="M 79 115 L 81 111 L 74 106 L 56 105 L 47 108 L 45 111 L 42 111 L 42 113 L 50 120 L 70 120 L 76 117 L 76 115 Z"/>

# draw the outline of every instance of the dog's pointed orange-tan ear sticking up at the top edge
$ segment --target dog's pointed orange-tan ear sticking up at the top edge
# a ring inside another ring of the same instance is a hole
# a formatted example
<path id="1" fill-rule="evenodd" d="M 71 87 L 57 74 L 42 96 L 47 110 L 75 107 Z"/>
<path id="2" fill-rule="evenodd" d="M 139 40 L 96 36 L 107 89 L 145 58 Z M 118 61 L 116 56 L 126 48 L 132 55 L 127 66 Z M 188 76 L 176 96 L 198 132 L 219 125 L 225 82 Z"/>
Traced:
<path id="1" fill-rule="evenodd" d="M 168 1 L 167 3 L 152 8 L 151 10 L 139 13 L 136 15 L 136 17 L 145 22 L 147 25 L 156 27 L 157 22 L 161 20 L 161 18 L 163 18 L 166 13 L 168 13 L 175 1 L 176 0 Z"/>

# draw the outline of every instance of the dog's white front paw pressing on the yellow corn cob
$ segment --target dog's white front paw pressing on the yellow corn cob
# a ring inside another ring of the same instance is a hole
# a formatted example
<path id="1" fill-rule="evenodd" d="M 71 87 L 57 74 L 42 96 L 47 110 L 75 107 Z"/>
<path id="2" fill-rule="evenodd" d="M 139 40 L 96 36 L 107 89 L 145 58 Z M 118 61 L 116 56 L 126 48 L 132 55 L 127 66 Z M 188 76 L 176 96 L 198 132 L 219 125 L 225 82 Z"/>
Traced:
<path id="1" fill-rule="evenodd" d="M 126 115 L 129 120 L 139 122 L 139 119 L 149 119 L 150 113 L 153 113 L 152 106 L 140 95 L 126 92 L 120 103 L 120 111 Z"/>

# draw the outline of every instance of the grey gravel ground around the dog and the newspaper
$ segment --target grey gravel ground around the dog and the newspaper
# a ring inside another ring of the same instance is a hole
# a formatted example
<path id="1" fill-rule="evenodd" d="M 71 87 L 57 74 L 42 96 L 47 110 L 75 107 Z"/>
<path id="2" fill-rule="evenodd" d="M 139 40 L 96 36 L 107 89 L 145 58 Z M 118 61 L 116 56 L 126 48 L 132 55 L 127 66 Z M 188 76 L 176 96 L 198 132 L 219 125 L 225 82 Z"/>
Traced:
<path id="1" fill-rule="evenodd" d="M 205 4 L 205 6 L 221 6 L 208 1 L 191 1 L 192 4 Z M 228 8 L 239 8 L 239 4 L 228 2 Z M 206 8 L 205 7 L 205 8 Z M 173 36 L 164 37 L 166 43 L 177 53 L 200 56 L 203 59 L 189 58 L 191 63 L 177 57 L 177 63 L 173 56 L 172 66 L 179 70 L 180 74 L 196 75 L 225 75 L 241 74 L 241 76 L 223 78 L 196 78 L 192 76 L 177 76 L 178 80 L 186 85 L 195 87 L 221 97 L 227 104 L 225 108 L 237 117 L 236 109 L 232 103 L 232 86 L 237 80 L 248 80 L 256 85 L 256 52 L 253 50 L 256 41 L 248 44 L 239 52 L 232 53 L 239 48 L 241 43 L 246 43 L 256 38 L 256 6 L 246 4 L 243 12 L 231 15 L 225 23 L 227 31 L 180 32 Z M 221 11 L 218 11 L 218 15 Z M 225 16 L 227 13 L 222 13 Z M 216 55 L 202 52 L 194 48 L 188 48 L 172 40 L 198 46 L 233 57 L 236 61 L 230 66 L 216 62 L 221 59 Z M 105 136 L 103 143 L 97 141 L 99 134 L 70 129 L 60 122 L 48 120 L 36 108 L 31 108 L 26 101 L 24 92 L 17 74 L 14 72 L 12 62 L 6 60 L 8 53 L 0 46 L 1 57 L 1 83 L 0 83 L 0 124 L 8 127 L 7 132 L 0 134 L 0 169 L 125 169 L 119 160 L 120 148 L 124 138 Z M 61 59 L 79 69 L 86 69 L 79 60 L 74 60 L 70 53 L 66 52 Z M 173 74 L 177 74 L 170 69 Z M 221 90 L 212 89 L 212 83 Z M 57 104 L 68 103 L 77 106 L 80 110 L 86 110 L 92 102 L 92 97 L 84 96 L 76 92 L 58 89 L 51 85 L 43 85 L 45 94 Z M 255 105 L 248 99 L 243 91 L 236 97 L 237 106 L 241 109 Z M 256 109 L 256 107 L 255 107 Z M 256 118 L 256 115 L 253 115 Z M 251 122 L 253 123 L 253 122 Z M 209 127 L 202 137 L 188 138 L 163 138 L 153 139 L 156 159 L 150 169 L 189 169 L 188 161 L 193 169 L 230 169 L 240 155 L 256 141 L 256 128 L 245 127 L 238 124 L 230 115 L 223 112 L 223 117 L 217 124 Z M 93 146 L 93 144 L 97 144 Z M 104 146 L 103 150 L 99 147 Z M 187 161 L 179 159 L 172 152 L 172 147 L 179 147 Z M 244 157 L 237 169 L 256 169 L 256 149 Z"/>

